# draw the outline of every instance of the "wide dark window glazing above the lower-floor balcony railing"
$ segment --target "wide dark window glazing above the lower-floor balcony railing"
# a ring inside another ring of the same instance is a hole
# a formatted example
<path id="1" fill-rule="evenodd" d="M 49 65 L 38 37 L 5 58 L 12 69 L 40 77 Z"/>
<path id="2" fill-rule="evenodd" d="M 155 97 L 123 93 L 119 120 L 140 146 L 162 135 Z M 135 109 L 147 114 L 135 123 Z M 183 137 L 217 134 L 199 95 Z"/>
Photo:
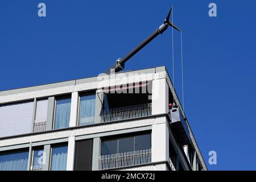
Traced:
<path id="1" fill-rule="evenodd" d="M 105 139 L 101 143 L 101 155 L 151 149 L 151 134 L 140 134 L 115 139 Z"/>

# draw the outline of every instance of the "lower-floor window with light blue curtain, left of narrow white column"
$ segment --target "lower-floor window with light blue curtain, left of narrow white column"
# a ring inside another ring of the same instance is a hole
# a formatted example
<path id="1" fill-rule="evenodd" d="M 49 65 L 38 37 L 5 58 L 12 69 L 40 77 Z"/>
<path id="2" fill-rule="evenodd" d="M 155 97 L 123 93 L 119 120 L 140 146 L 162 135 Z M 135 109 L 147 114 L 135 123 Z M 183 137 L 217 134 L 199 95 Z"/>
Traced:
<path id="1" fill-rule="evenodd" d="M 67 168 L 68 146 L 54 146 L 51 152 L 51 171 L 65 171 Z"/>

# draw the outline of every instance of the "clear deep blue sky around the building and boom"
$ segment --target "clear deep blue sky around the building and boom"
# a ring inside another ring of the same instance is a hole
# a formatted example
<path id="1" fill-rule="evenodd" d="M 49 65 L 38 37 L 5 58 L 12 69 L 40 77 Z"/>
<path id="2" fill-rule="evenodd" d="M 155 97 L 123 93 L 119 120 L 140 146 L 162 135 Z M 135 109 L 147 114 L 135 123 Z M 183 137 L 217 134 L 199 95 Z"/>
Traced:
<path id="1" fill-rule="evenodd" d="M 38 17 L 38 3 L 47 17 Z M 217 18 L 208 16 L 210 2 Z M 96 76 L 151 34 L 174 5 L 183 30 L 185 112 L 209 169 L 256 169 L 256 1 L 0 1 L 0 90 Z M 181 98 L 180 37 L 175 86 Z M 166 65 L 171 28 L 126 70 Z"/>

